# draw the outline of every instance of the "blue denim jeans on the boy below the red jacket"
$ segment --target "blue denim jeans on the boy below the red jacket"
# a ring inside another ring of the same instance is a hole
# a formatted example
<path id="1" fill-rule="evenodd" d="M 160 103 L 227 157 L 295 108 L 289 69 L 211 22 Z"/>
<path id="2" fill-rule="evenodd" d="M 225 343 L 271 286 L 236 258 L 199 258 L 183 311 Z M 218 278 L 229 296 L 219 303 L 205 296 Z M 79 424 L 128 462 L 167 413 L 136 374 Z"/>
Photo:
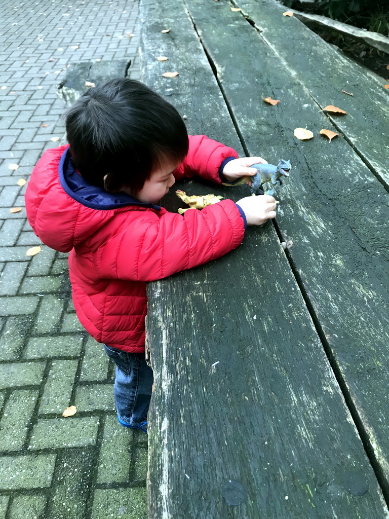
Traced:
<path id="1" fill-rule="evenodd" d="M 103 344 L 108 357 L 116 364 L 114 395 L 118 417 L 129 425 L 147 421 L 150 404 L 152 369 L 144 353 L 128 353 Z"/>

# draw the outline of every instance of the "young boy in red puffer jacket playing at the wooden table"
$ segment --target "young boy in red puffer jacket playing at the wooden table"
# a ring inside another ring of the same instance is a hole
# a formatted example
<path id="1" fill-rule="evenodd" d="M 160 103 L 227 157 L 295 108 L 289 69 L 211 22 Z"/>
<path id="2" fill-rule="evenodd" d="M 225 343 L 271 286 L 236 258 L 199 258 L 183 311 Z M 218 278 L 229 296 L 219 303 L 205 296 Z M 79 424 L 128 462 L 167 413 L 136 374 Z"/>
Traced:
<path id="1" fill-rule="evenodd" d="M 263 224 L 276 209 L 264 195 L 180 215 L 159 200 L 184 176 L 233 182 L 266 161 L 237 158 L 205 135 L 188 138 L 175 108 L 130 79 L 82 95 L 67 112 L 66 131 L 70 146 L 48 149 L 32 172 L 27 217 L 43 243 L 70 252 L 77 316 L 116 363 L 119 423 L 147 432 L 146 282 L 227 254 L 246 225 Z"/>

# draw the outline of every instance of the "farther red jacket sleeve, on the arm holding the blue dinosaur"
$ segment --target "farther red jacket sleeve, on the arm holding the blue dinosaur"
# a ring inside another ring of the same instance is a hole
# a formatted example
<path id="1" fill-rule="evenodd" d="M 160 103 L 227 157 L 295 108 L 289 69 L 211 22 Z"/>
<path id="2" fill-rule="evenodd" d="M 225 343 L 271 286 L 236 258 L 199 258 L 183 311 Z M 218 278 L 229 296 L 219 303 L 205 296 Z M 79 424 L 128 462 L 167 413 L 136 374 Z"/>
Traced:
<path id="1" fill-rule="evenodd" d="M 238 153 L 206 135 L 189 135 L 188 154 L 174 171 L 174 176 L 180 180 L 184 176 L 199 175 L 205 180 L 221 184 L 219 167 L 228 157 L 238 158 Z"/>

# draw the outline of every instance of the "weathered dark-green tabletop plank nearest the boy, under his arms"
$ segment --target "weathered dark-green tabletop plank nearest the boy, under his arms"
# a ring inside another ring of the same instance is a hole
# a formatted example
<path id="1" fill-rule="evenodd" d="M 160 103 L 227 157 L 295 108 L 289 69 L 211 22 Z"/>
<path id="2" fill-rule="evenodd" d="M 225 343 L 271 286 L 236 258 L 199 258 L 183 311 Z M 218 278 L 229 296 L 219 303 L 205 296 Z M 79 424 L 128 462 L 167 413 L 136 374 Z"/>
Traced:
<path id="1" fill-rule="evenodd" d="M 220 95 L 202 102 L 201 89 L 205 98 L 216 84 L 183 4 L 173 0 L 166 9 L 143 0 L 141 20 L 146 83 L 164 92 L 152 57 L 169 56 L 170 70 L 180 73 L 176 83 L 169 80 L 170 100 L 187 115 L 191 131 L 231 144 Z M 165 28 L 171 32 L 162 35 Z M 236 72 L 231 80 L 238 89 Z M 193 78 L 200 77 L 197 84 Z M 209 119 L 216 120 L 212 133 Z M 223 189 L 237 193 L 214 190 Z M 216 262 L 149 285 L 147 339 L 156 380 L 149 412 L 150 519 L 387 517 L 273 227 L 247 234 L 238 250 Z M 349 472 L 368 481 L 364 495 L 346 490 Z M 230 480 L 245 488 L 240 505 L 231 505 Z"/>

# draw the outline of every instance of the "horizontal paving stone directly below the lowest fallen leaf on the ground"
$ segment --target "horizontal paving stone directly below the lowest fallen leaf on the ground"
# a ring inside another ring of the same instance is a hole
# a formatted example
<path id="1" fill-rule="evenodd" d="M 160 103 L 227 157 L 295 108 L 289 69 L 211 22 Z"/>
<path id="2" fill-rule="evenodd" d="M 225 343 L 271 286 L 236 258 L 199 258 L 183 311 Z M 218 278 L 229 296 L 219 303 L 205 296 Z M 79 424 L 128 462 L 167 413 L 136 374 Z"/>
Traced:
<path id="1" fill-rule="evenodd" d="M 34 426 L 28 448 L 35 450 L 95 445 L 99 423 L 97 416 L 41 418 Z"/>

